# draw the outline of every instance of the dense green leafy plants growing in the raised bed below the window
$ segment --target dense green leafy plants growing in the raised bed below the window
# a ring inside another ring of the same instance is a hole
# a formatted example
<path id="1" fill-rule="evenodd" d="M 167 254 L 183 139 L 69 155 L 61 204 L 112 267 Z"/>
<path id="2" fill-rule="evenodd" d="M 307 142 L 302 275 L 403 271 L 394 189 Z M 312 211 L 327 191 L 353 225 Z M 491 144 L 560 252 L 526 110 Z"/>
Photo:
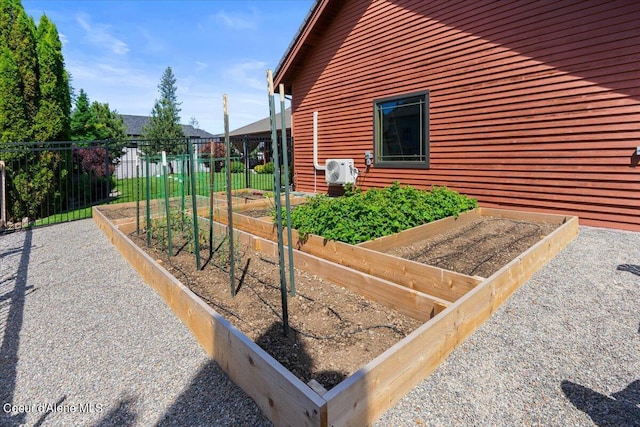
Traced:
<path id="1" fill-rule="evenodd" d="M 478 202 L 446 187 L 431 191 L 402 186 L 361 191 L 347 188 L 345 195 L 320 194 L 291 212 L 291 222 L 302 239 L 316 234 L 329 240 L 357 244 L 387 236 L 476 208 Z"/>

